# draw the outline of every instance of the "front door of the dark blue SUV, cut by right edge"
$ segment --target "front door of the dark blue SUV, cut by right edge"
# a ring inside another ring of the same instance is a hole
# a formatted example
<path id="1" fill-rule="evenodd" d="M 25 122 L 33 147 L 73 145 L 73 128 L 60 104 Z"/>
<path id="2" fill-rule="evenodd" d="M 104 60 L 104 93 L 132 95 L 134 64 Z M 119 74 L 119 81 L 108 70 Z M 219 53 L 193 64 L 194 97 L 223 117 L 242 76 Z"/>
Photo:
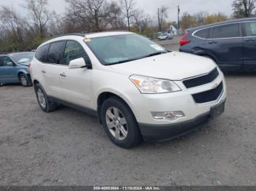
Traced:
<path id="1" fill-rule="evenodd" d="M 256 71 L 256 21 L 245 22 L 244 26 L 244 70 Z"/>

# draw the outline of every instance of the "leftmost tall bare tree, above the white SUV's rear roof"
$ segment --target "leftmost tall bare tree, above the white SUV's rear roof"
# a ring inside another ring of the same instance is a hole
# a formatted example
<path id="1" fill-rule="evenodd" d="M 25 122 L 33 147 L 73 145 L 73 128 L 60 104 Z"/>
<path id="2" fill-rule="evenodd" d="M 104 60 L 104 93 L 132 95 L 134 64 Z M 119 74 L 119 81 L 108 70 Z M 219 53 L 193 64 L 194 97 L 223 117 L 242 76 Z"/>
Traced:
<path id="1" fill-rule="evenodd" d="M 39 30 L 41 39 L 45 37 L 46 24 L 50 20 L 50 12 L 48 11 L 48 0 L 24 0 L 23 7 L 31 12 L 34 18 L 34 26 Z"/>

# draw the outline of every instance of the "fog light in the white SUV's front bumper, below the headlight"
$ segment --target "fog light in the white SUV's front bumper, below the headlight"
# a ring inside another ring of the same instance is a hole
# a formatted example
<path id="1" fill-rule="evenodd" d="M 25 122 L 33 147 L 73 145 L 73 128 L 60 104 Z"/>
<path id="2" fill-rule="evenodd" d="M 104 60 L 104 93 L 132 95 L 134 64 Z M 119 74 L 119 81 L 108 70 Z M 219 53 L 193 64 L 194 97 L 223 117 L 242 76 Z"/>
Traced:
<path id="1" fill-rule="evenodd" d="M 185 117 L 184 112 L 151 112 L 154 120 L 177 120 L 178 118 Z"/>

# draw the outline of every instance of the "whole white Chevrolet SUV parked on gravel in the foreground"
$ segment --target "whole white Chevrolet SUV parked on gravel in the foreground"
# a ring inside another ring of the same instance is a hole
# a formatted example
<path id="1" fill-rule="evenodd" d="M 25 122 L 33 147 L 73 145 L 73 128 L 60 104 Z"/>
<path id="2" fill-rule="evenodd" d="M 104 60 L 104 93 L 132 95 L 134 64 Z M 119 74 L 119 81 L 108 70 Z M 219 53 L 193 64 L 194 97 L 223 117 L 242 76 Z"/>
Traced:
<path id="1" fill-rule="evenodd" d="M 64 104 L 94 114 L 124 148 L 180 136 L 225 108 L 225 79 L 214 61 L 127 31 L 51 39 L 30 69 L 44 112 Z"/>

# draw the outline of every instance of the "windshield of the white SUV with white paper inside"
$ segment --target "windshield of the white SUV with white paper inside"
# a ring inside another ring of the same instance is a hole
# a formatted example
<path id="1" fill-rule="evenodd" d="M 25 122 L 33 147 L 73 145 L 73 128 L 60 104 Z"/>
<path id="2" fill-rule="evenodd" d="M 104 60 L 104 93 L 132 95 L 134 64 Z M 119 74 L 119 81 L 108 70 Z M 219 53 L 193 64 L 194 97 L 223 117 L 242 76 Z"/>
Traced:
<path id="1" fill-rule="evenodd" d="M 125 63 L 167 51 L 138 34 L 124 34 L 92 38 L 86 42 L 104 65 Z"/>

